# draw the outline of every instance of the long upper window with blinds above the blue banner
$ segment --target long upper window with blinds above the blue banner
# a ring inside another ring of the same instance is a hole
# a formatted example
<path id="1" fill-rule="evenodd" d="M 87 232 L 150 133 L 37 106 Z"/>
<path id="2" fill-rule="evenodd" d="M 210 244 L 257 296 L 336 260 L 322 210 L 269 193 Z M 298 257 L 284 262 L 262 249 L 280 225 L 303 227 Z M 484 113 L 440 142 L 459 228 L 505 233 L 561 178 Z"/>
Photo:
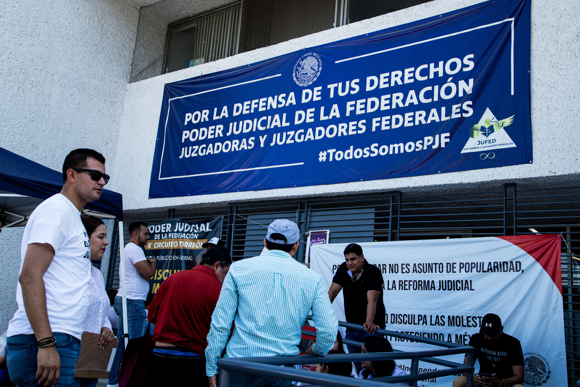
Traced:
<path id="1" fill-rule="evenodd" d="M 169 24 L 163 72 L 212 62 L 431 0 L 241 0 Z"/>

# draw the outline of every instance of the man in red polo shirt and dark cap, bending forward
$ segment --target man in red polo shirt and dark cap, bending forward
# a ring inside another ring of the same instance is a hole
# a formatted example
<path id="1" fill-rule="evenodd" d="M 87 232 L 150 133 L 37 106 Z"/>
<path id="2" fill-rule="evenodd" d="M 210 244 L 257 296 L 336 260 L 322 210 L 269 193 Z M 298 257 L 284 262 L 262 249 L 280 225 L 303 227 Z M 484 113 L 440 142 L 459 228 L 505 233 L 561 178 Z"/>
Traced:
<path id="1" fill-rule="evenodd" d="M 230 264 L 227 249 L 215 246 L 202 256 L 201 265 L 172 274 L 159 287 L 147 314 L 155 324 L 154 385 L 209 385 L 206 337 Z"/>

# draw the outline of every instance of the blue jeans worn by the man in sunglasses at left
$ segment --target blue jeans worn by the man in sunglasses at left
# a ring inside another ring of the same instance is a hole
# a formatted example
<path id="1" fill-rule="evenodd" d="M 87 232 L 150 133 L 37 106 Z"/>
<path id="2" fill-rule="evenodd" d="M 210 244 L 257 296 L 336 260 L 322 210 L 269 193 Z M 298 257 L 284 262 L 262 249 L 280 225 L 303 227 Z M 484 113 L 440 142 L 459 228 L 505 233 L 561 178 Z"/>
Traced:
<path id="1" fill-rule="evenodd" d="M 81 341 L 71 335 L 52 332 L 60 357 L 60 379 L 56 387 L 73 387 L 74 366 L 81 353 Z M 37 339 L 34 335 L 16 335 L 6 338 L 6 363 L 12 382 L 19 387 L 38 387 L 36 372 Z"/>

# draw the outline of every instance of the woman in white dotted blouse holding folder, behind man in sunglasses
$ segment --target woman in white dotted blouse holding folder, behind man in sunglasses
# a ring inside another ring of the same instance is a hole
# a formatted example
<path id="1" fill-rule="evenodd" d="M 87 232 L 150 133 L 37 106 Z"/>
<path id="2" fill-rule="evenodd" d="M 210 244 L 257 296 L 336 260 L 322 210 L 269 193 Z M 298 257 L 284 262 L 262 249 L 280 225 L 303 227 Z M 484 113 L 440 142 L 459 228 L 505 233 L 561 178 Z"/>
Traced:
<path id="1" fill-rule="evenodd" d="M 107 227 L 103 220 L 95 216 L 81 216 L 82 224 L 85 226 L 86 234 L 90 243 L 90 260 L 103 258 L 103 254 L 108 245 Z M 103 274 L 95 266 L 90 266 L 90 306 L 86 312 L 85 321 L 82 324 L 84 332 L 90 332 L 99 335 L 99 349 L 103 349 L 114 337 L 111 322 L 107 317 L 110 308 L 110 300 L 105 291 Z M 81 353 L 84 346 L 81 340 Z M 81 372 L 75 371 L 76 374 Z M 82 375 L 82 374 L 81 374 Z M 99 379 L 96 378 L 74 378 L 75 387 L 95 387 Z"/>

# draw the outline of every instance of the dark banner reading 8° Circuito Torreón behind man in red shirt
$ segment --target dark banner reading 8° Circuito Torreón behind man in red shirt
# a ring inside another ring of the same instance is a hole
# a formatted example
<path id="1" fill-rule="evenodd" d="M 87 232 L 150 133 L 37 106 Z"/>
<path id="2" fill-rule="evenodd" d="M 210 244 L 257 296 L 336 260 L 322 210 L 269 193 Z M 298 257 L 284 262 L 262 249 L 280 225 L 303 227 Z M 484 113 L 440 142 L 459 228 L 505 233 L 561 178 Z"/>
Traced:
<path id="1" fill-rule="evenodd" d="M 150 239 L 144 246 L 145 255 L 157 259 L 157 271 L 149 283 L 148 301 L 171 274 L 199 265 L 195 258 L 204 249 L 204 243 L 222 236 L 222 222 L 223 216 L 193 222 L 167 219 L 148 223 Z"/>

